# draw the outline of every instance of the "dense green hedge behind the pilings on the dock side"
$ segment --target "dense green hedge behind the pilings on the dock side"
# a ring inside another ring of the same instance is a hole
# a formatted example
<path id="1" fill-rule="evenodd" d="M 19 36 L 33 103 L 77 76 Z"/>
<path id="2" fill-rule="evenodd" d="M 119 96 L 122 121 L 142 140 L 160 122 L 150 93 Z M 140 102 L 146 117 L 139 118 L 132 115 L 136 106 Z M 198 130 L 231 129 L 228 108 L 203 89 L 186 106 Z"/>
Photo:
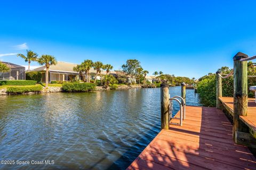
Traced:
<path id="1" fill-rule="evenodd" d="M 254 98 L 254 92 L 249 90 L 250 86 L 255 86 L 256 78 L 248 77 L 248 97 Z M 207 75 L 203 80 L 197 82 L 197 93 L 200 96 L 202 104 L 205 106 L 216 106 L 216 75 Z M 233 97 L 234 80 L 233 76 L 222 79 L 222 96 Z"/>

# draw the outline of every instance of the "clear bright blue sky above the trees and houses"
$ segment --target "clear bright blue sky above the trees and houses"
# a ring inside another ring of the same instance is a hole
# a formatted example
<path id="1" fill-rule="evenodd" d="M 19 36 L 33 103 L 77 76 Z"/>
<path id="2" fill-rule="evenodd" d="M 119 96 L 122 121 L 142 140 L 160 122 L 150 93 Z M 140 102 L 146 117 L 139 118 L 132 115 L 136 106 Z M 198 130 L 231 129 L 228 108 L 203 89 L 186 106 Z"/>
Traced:
<path id="1" fill-rule="evenodd" d="M 31 49 L 58 61 L 102 61 L 199 78 L 256 54 L 256 1 L 1 1 L 0 60 Z M 31 65 L 38 65 L 32 63 Z"/>

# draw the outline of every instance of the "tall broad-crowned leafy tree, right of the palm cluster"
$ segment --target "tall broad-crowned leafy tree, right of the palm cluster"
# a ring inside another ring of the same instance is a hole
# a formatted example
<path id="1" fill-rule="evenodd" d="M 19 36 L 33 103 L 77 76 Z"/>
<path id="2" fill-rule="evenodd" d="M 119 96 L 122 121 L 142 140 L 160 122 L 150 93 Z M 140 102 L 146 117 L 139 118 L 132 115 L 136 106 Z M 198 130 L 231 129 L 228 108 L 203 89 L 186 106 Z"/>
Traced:
<path id="1" fill-rule="evenodd" d="M 126 64 L 122 65 L 122 69 L 123 71 L 127 74 L 131 76 L 131 82 L 130 85 L 133 82 L 133 79 L 136 77 L 137 74 L 137 69 L 141 67 L 140 66 L 140 62 L 136 59 L 134 60 L 127 60 Z"/>

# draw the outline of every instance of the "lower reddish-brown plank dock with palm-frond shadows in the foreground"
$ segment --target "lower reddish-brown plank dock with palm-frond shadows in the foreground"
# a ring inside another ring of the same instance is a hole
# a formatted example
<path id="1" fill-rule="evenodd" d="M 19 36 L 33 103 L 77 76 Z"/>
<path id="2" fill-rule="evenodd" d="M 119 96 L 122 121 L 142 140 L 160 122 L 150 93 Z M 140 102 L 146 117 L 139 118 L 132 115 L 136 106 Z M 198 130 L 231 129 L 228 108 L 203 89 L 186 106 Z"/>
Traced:
<path id="1" fill-rule="evenodd" d="M 233 141 L 232 128 L 220 109 L 187 106 L 183 125 L 159 132 L 127 169 L 256 169 L 250 150 Z"/>

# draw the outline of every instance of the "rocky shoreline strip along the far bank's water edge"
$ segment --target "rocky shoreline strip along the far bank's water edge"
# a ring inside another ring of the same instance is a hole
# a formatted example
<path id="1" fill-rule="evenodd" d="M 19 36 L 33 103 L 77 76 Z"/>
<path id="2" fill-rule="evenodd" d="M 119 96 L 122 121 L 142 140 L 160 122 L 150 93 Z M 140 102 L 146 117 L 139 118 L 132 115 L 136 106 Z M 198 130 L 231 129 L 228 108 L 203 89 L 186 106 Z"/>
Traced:
<path id="1" fill-rule="evenodd" d="M 122 84 L 122 85 L 118 85 L 118 88 L 116 88 L 116 89 L 110 89 L 109 87 L 108 88 L 103 88 L 103 86 L 96 86 L 95 90 L 92 90 L 92 91 L 136 89 L 136 88 L 142 88 L 142 86 L 139 85 L 139 84 L 135 84 L 135 85 L 131 85 L 131 86 Z M 0 96 L 3 96 L 3 95 L 12 96 L 12 95 L 47 94 L 47 93 L 55 93 L 55 92 L 64 92 L 64 91 L 62 91 L 61 87 L 48 87 L 47 89 L 43 88 L 43 90 L 41 92 L 31 91 L 31 92 L 27 92 L 27 93 L 24 93 L 24 94 L 7 94 L 6 89 L 0 89 Z M 89 91 L 87 91 L 87 92 L 89 92 Z"/>

